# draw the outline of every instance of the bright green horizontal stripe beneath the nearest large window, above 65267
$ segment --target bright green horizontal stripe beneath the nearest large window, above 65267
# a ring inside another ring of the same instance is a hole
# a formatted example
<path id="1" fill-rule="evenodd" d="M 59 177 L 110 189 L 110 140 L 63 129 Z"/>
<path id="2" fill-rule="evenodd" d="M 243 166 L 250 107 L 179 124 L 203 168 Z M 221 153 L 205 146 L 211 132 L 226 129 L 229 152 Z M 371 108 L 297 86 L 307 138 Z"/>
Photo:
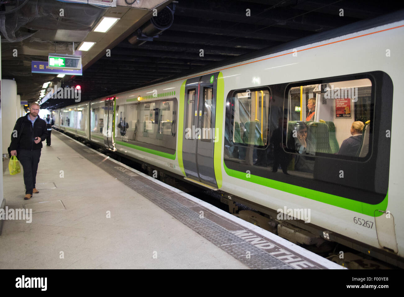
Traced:
<path id="1" fill-rule="evenodd" d="M 258 185 L 263 185 L 265 187 L 271 187 L 273 189 L 287 192 L 290 194 L 303 196 L 305 198 L 341 207 L 343 209 L 348 209 L 350 211 L 355 211 L 357 213 L 362 213 L 364 215 L 379 217 L 383 213 L 377 212 L 375 214 L 375 210 L 380 209 L 382 211 L 385 211 L 387 209 L 388 196 L 389 196 L 388 192 L 386 194 L 386 197 L 379 204 L 368 204 L 365 202 L 360 202 L 345 197 L 340 197 L 316 190 L 307 189 L 305 187 L 299 187 L 297 185 L 291 185 L 290 183 L 282 183 L 281 181 L 275 181 L 273 179 L 267 179 L 265 177 L 257 175 L 250 174 L 250 177 L 247 177 L 245 172 L 240 172 L 227 168 L 224 162 L 223 166 L 225 168 L 226 173 L 231 177 L 244 179 L 245 181 L 250 181 Z"/>

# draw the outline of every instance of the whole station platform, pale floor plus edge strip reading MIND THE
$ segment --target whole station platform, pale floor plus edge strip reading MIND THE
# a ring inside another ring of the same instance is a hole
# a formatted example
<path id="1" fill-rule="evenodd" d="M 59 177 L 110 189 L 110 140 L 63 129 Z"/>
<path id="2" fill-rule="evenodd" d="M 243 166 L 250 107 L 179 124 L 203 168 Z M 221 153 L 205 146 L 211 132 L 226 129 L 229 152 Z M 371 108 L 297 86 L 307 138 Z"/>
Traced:
<path id="1" fill-rule="evenodd" d="M 25 195 L 3 162 L 2 269 L 344 269 L 53 131 Z"/>

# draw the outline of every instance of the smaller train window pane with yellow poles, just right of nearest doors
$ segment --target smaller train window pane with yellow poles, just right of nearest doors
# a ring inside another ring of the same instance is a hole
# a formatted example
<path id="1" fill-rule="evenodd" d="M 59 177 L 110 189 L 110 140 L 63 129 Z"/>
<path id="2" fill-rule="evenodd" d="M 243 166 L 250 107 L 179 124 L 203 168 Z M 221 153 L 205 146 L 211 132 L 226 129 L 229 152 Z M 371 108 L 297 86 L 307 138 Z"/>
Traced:
<path id="1" fill-rule="evenodd" d="M 233 142 L 267 145 L 269 90 L 251 89 L 234 93 L 232 98 Z"/>

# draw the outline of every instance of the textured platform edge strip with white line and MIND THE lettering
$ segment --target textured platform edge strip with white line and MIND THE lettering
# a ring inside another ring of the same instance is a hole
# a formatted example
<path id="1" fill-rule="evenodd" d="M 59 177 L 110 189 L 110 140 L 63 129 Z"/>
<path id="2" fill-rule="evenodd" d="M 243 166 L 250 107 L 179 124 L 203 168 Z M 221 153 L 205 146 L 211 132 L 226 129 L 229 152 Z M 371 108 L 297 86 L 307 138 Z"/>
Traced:
<path id="1" fill-rule="evenodd" d="M 202 237 L 206 238 L 229 255 L 253 269 L 346 269 L 315 253 L 303 249 L 256 225 L 248 223 L 207 202 L 166 185 L 83 143 L 57 132 L 55 135 L 66 145 L 81 154 L 100 169 L 116 177 L 120 182 L 138 192 L 167 213 L 178 219 Z M 65 137 L 64 140 L 62 137 Z M 74 143 L 75 142 L 75 143 Z M 76 144 L 80 145 L 78 147 Z M 86 150 L 84 150 L 86 149 Z M 92 152 L 89 152 L 91 150 Z M 93 154 L 96 153 L 96 154 Z M 93 160 L 94 159 L 94 160 Z M 111 161 L 112 163 L 109 163 Z M 115 164 L 128 169 L 137 176 L 128 176 Z M 145 179 L 153 183 L 145 184 Z M 167 192 L 170 192 L 168 194 Z M 183 202 L 183 203 L 181 203 Z M 187 206 L 185 204 L 190 204 Z M 206 213 L 200 216 L 200 211 Z M 226 229 L 233 225 L 235 230 Z M 235 228 L 236 226 L 236 228 Z"/>

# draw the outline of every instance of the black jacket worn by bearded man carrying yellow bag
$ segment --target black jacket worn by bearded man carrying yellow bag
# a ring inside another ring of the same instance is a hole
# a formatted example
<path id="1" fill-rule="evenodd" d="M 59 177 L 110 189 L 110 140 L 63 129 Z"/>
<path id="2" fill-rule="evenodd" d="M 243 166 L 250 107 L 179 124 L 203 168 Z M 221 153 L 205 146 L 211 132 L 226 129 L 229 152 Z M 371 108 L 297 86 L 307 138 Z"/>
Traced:
<path id="1" fill-rule="evenodd" d="M 22 116 L 15 123 L 13 132 L 11 133 L 11 151 L 18 149 L 39 150 L 42 148 L 42 141 L 48 137 L 46 122 L 38 116 L 34 122 L 34 127 L 32 127 L 32 122 L 28 119 L 28 115 Z M 17 130 L 17 133 L 14 133 L 15 130 Z M 17 137 L 14 137 L 15 135 Z M 41 138 L 40 143 L 34 142 L 36 137 Z"/>

